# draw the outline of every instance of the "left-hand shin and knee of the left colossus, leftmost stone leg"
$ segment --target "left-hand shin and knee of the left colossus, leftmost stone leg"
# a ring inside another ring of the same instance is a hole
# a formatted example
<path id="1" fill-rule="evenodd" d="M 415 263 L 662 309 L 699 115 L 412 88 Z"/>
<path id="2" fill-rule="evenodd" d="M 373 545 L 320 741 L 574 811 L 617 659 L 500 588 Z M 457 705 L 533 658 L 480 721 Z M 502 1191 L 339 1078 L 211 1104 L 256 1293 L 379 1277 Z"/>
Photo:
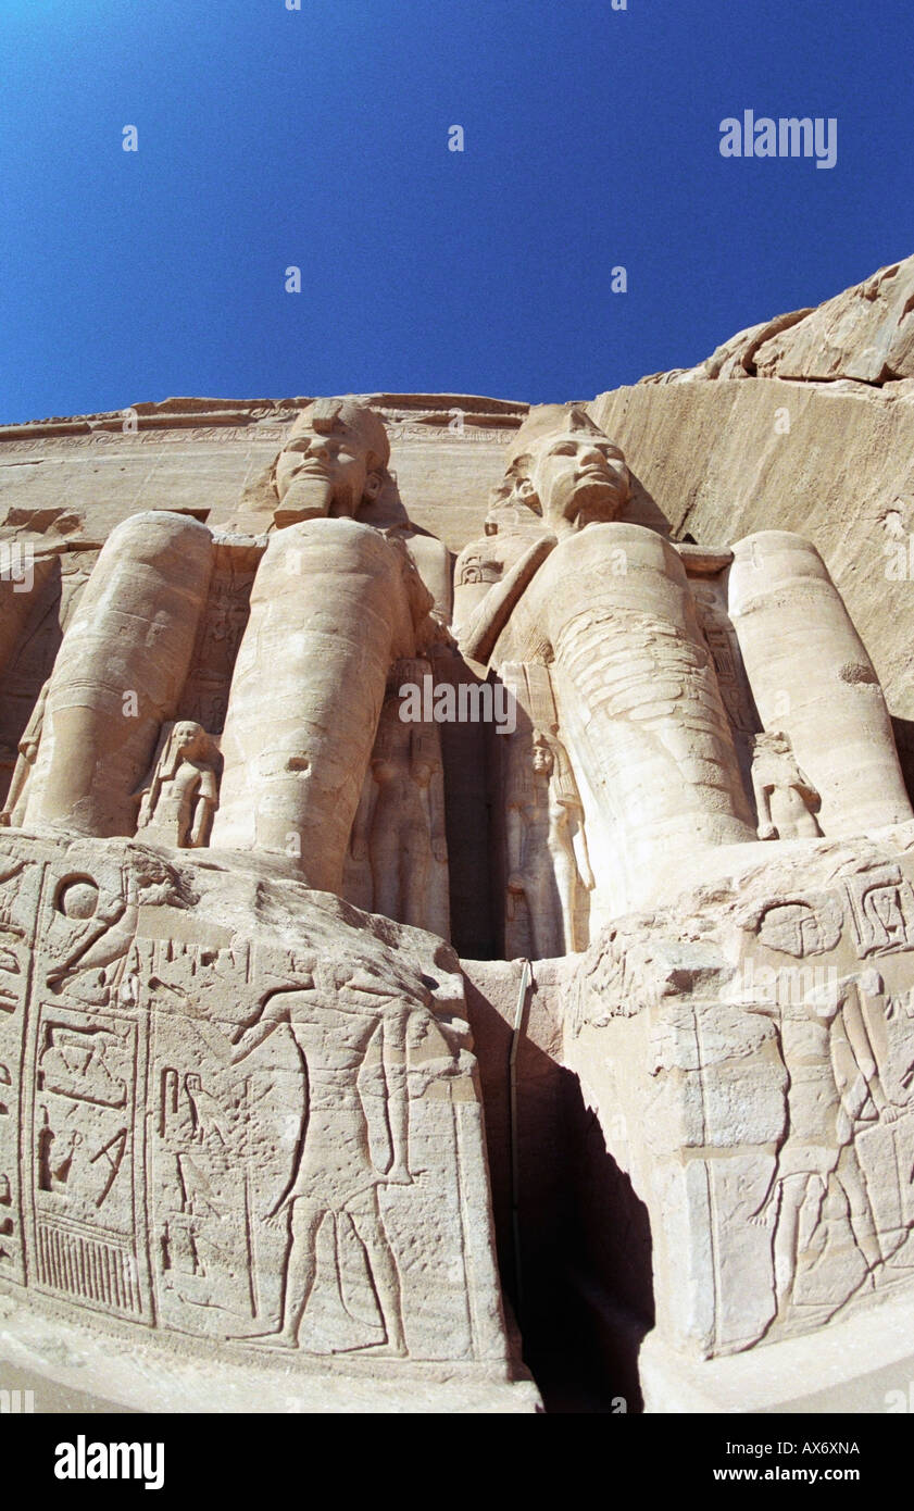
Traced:
<path id="1" fill-rule="evenodd" d="M 133 793 L 190 666 L 213 562 L 205 524 L 134 514 L 109 535 L 47 692 L 26 827 L 133 834 Z"/>

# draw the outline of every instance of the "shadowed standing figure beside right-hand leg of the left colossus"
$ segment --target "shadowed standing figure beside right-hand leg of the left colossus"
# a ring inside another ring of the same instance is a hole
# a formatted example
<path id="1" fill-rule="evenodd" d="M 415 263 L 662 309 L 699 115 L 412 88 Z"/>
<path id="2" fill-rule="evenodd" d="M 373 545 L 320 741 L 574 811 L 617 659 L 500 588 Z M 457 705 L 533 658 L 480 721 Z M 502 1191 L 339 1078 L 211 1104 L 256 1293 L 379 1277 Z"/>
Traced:
<path id="1" fill-rule="evenodd" d="M 370 872 L 370 898 L 364 902 L 370 911 L 447 938 L 441 736 L 434 722 L 400 718 L 400 688 L 421 688 L 431 675 L 431 663 L 421 657 L 394 662 L 350 854 Z"/>

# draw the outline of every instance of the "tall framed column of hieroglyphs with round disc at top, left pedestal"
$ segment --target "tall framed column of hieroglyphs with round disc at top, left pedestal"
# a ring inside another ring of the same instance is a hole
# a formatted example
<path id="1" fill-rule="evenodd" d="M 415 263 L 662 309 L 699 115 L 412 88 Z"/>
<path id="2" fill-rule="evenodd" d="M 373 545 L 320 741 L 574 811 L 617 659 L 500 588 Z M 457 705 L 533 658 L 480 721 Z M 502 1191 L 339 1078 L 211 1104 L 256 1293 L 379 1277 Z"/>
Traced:
<path id="1" fill-rule="evenodd" d="M 21 1133 L 30 1283 L 147 1325 L 148 1026 L 128 963 L 140 898 L 154 895 L 119 866 L 100 878 L 47 869 Z"/>

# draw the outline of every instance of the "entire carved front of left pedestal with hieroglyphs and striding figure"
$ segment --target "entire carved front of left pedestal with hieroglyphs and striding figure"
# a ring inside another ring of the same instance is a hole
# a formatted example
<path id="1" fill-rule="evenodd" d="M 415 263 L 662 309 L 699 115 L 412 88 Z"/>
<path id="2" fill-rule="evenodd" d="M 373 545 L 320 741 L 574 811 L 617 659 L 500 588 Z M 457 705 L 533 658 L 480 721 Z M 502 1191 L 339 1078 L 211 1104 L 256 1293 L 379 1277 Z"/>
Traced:
<path id="1" fill-rule="evenodd" d="M 316 953 L 293 914 L 301 947 L 254 944 L 140 846 L 39 848 L 44 881 L 9 866 L 41 882 L 41 943 L 0 1020 L 0 1109 L 24 1043 L 0 1277 L 26 1280 L 21 1170 L 29 1284 L 57 1304 L 234 1349 L 503 1357 L 468 1289 L 486 1188 L 456 959 L 420 973 L 358 931 L 328 953 L 319 917 Z"/>

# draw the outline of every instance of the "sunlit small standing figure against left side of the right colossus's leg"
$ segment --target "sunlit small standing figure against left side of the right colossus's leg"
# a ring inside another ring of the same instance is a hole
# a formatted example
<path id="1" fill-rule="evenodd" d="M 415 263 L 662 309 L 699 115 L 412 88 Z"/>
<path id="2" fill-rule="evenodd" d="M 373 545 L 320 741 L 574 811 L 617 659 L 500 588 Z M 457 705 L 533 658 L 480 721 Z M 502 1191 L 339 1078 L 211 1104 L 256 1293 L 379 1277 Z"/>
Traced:
<path id="1" fill-rule="evenodd" d="M 530 956 L 551 959 L 583 947 L 579 888 L 594 887 L 583 805 L 565 748 L 554 736 L 518 731 L 511 746 L 506 946 L 508 953 L 515 953 L 518 904 L 526 904 Z"/>

